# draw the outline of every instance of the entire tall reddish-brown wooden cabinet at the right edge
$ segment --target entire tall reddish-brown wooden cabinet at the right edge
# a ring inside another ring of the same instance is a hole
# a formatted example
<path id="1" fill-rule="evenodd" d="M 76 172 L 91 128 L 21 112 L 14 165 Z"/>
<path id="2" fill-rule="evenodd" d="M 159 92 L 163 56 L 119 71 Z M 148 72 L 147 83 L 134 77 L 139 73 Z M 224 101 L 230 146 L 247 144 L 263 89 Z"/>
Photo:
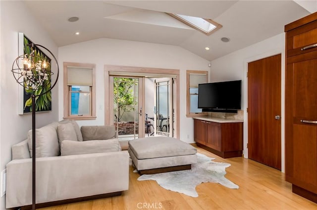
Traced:
<path id="1" fill-rule="evenodd" d="M 317 13 L 285 32 L 285 178 L 317 203 Z"/>

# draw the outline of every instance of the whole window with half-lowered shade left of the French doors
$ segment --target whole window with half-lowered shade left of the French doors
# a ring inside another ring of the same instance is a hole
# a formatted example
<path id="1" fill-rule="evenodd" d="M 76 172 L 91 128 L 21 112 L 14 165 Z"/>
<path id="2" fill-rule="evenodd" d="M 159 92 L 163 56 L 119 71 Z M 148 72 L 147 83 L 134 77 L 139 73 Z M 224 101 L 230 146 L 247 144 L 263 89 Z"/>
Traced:
<path id="1" fill-rule="evenodd" d="M 64 118 L 96 118 L 95 64 L 64 63 Z"/>

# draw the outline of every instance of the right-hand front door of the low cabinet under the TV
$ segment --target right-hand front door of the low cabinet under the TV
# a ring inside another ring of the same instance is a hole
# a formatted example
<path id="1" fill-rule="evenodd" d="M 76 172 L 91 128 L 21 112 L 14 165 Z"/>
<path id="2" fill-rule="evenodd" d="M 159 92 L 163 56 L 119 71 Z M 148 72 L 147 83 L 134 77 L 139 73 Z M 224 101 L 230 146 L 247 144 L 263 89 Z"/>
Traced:
<path id="1" fill-rule="evenodd" d="M 220 123 L 206 122 L 207 126 L 207 139 L 206 146 L 215 149 L 217 151 L 221 150 L 221 125 Z"/>

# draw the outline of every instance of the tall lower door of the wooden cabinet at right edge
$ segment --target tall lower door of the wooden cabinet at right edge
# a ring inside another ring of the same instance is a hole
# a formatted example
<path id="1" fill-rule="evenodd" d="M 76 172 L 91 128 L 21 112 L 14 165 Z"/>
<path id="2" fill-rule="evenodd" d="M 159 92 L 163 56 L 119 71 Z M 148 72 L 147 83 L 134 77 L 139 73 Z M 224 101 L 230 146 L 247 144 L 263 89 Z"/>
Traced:
<path id="1" fill-rule="evenodd" d="M 286 180 L 317 193 L 317 51 L 286 64 Z"/>

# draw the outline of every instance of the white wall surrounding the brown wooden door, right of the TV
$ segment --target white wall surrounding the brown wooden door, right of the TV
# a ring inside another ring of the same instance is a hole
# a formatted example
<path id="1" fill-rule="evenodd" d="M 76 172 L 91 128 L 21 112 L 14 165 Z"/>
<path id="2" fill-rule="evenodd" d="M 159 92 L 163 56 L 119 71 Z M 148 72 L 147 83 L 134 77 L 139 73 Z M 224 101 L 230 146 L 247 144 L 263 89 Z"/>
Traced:
<path id="1" fill-rule="evenodd" d="M 277 36 L 271 37 L 262 42 L 250 45 L 246 48 L 237 50 L 226 56 L 213 60 L 211 62 L 211 81 L 226 81 L 226 80 L 242 80 L 242 104 L 241 109 L 244 110 L 244 124 L 243 124 L 243 149 L 244 157 L 248 158 L 248 118 L 246 112 L 247 106 L 247 67 L 248 62 L 262 59 L 271 55 L 281 53 L 281 117 L 284 119 L 284 91 L 285 91 L 285 34 L 279 34 Z M 281 125 L 281 139 L 282 139 L 282 171 L 284 172 L 284 132 L 285 125 L 284 120 L 282 120 Z"/>

